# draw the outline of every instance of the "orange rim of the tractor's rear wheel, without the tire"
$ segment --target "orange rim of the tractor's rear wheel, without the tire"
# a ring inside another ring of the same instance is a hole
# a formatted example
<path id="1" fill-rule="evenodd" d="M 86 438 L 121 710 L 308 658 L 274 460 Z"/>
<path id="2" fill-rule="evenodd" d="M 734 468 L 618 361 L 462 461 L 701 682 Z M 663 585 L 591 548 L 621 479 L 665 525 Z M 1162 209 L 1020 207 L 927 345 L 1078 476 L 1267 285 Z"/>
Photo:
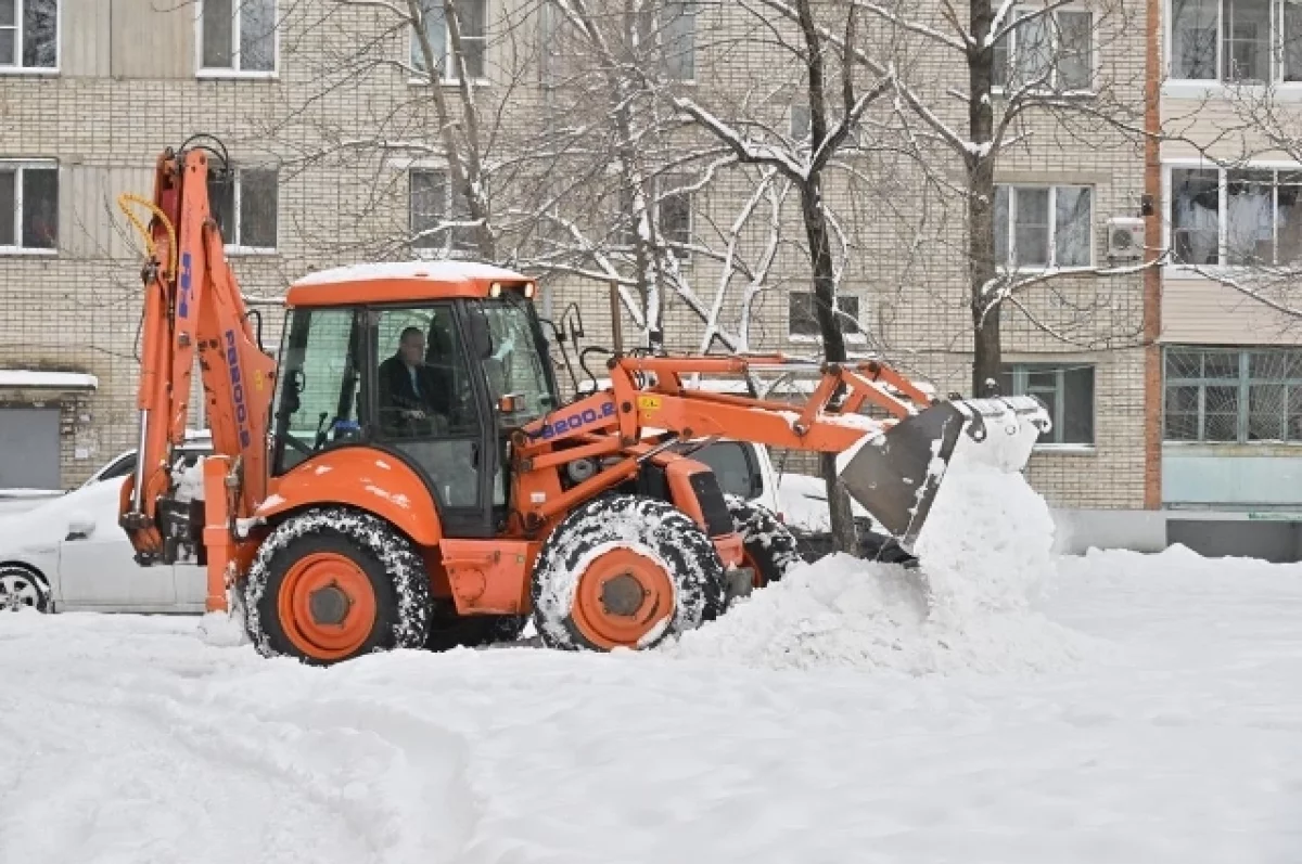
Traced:
<path id="1" fill-rule="evenodd" d="M 289 567 L 277 597 L 280 626 L 298 651 L 339 660 L 357 651 L 375 625 L 375 589 L 348 556 L 316 552 Z"/>

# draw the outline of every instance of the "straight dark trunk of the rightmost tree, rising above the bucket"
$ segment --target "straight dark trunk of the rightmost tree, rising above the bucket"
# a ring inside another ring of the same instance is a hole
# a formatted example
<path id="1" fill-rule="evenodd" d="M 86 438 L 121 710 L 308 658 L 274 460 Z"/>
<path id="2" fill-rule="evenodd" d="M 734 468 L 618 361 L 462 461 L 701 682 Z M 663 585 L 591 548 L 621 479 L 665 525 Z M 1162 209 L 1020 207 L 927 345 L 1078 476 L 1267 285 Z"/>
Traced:
<path id="1" fill-rule="evenodd" d="M 970 101 L 969 133 L 976 152 L 966 156 L 967 170 L 967 278 L 973 314 L 973 396 L 990 396 L 999 386 L 1001 345 L 1000 304 L 988 291 L 995 284 L 995 120 L 991 85 L 995 52 L 983 48 L 991 31 L 991 0 L 971 0 L 974 48 L 967 55 Z"/>

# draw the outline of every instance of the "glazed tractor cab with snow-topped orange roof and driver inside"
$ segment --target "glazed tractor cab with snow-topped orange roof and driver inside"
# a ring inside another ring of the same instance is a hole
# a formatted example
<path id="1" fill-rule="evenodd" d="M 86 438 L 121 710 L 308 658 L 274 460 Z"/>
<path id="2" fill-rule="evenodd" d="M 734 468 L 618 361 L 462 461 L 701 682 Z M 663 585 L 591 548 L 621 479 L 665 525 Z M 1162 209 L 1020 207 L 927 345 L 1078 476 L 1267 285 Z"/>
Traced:
<path id="1" fill-rule="evenodd" d="M 289 291 L 271 476 L 366 446 L 426 480 L 447 536 L 508 511 L 506 439 L 560 401 L 534 282 L 462 263 L 340 268 Z"/>

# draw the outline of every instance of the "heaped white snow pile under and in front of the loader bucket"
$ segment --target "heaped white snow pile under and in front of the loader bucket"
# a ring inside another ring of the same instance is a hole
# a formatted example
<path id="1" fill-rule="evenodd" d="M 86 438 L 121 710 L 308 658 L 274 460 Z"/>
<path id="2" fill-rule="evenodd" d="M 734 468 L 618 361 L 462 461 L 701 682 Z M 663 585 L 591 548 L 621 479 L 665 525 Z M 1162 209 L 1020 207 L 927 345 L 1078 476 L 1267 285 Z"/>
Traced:
<path id="1" fill-rule="evenodd" d="M 1055 573 L 1047 504 L 1021 474 L 969 455 L 961 444 L 918 539 L 918 570 L 841 554 L 801 565 L 664 653 L 911 675 L 1074 665 L 1085 638 L 1031 606 Z"/>

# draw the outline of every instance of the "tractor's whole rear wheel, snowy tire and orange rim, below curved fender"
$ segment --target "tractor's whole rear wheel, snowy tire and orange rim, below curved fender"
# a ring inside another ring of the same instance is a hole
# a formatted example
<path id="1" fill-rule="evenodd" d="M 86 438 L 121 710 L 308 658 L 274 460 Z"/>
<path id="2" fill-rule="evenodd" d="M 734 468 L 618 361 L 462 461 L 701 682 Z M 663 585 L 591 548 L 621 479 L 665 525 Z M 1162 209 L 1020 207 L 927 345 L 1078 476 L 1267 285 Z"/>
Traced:
<path id="1" fill-rule="evenodd" d="M 245 582 L 245 627 L 258 651 L 311 665 L 422 648 L 430 576 L 415 547 L 385 520 L 324 506 L 281 522 Z"/>

